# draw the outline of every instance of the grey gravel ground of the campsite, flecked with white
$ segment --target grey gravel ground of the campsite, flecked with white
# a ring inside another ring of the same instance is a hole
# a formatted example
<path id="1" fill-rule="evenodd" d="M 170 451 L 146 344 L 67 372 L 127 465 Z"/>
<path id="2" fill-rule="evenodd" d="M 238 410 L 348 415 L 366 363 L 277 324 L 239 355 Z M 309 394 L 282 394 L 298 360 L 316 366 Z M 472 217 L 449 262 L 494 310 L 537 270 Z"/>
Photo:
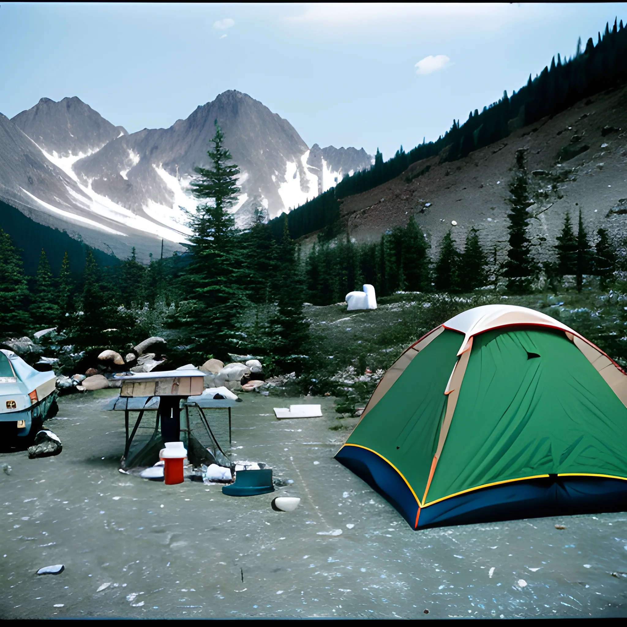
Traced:
<path id="1" fill-rule="evenodd" d="M 303 402 L 248 394 L 233 458 L 294 483 L 234 498 L 119 473 L 113 391 L 60 399 L 61 455 L 0 455 L 1 618 L 623 616 L 627 515 L 414 532 L 333 455 L 354 419 L 277 421 Z M 342 424 L 340 430 L 330 426 Z M 302 498 L 292 513 L 277 495 Z M 566 525 L 557 530 L 556 524 Z M 64 564 L 60 575 L 36 576 Z M 428 613 L 427 613 L 428 611 Z"/>

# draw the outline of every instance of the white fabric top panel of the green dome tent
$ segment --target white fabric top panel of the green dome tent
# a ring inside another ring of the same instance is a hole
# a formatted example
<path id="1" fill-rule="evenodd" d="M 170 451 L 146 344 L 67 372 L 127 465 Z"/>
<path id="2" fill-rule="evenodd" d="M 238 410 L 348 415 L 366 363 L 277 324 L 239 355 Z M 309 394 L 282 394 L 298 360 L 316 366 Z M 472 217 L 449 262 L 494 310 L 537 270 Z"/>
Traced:
<path id="1" fill-rule="evenodd" d="M 498 327 L 509 327 L 518 324 L 534 324 L 541 327 L 560 329 L 566 333 L 584 339 L 576 331 L 572 330 L 571 327 L 567 327 L 565 324 L 562 324 L 562 322 L 551 318 L 551 316 L 541 314 L 527 307 L 518 307 L 517 305 L 482 305 L 481 307 L 475 307 L 468 309 L 468 311 L 461 312 L 461 314 L 456 315 L 450 320 L 446 320 L 442 326 L 445 329 L 459 331 L 466 335 L 460 347 L 459 354 L 461 355 L 461 353 L 466 350 L 468 339 L 473 335 L 483 333 L 490 329 L 497 329 Z"/>

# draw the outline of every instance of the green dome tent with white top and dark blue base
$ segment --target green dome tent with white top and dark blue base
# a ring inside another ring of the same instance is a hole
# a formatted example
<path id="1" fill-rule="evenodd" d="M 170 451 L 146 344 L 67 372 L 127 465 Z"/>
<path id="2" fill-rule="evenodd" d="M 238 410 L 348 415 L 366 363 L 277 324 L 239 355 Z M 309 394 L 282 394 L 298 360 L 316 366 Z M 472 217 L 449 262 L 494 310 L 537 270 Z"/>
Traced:
<path id="1" fill-rule="evenodd" d="M 627 509 L 627 375 L 566 325 L 485 305 L 409 347 L 335 458 L 413 529 Z"/>

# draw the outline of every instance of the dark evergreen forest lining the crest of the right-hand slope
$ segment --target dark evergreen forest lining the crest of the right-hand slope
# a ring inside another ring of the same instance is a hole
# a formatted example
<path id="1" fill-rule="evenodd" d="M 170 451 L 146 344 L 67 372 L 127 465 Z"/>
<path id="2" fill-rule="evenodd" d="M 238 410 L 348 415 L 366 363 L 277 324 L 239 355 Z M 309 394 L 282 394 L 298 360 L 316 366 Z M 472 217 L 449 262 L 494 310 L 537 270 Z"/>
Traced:
<path id="1" fill-rule="evenodd" d="M 293 209 L 288 216 L 290 236 L 298 239 L 308 233 L 325 229 L 327 236 L 333 236 L 334 225 L 340 216 L 340 201 L 352 194 L 374 189 L 384 182 L 391 181 L 408 167 L 423 159 L 440 155 L 441 162 L 456 161 L 466 157 L 473 150 L 493 144 L 507 137 L 511 132 L 542 118 L 554 116 L 571 107 L 582 98 L 624 85 L 627 82 L 627 28 L 623 21 L 609 26 L 606 24 L 603 35 L 598 33 L 596 45 L 589 38 L 584 50 L 581 40 L 572 58 L 552 59 L 535 78 L 529 76 L 527 85 L 508 97 L 503 97 L 487 107 L 471 111 L 468 120 L 460 124 L 453 120 L 451 128 L 435 142 L 427 142 L 404 152 L 403 146 L 394 157 L 383 160 L 377 149 L 374 164 L 368 170 L 345 176 L 335 187 L 325 191 L 308 203 Z M 416 172 L 416 176 L 428 171 L 428 166 Z M 282 218 L 273 219 L 273 231 L 281 230 Z M 335 226 L 337 229 L 337 226 Z"/>

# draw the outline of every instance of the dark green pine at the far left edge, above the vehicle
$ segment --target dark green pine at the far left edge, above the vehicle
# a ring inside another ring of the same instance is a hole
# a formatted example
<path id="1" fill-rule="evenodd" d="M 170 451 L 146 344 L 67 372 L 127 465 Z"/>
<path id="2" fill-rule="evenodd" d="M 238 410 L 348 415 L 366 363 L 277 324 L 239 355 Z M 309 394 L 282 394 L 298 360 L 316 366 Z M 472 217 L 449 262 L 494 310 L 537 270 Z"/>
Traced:
<path id="1" fill-rule="evenodd" d="M 24 334 L 30 322 L 27 299 L 22 260 L 9 234 L 0 229 L 0 340 Z"/>

